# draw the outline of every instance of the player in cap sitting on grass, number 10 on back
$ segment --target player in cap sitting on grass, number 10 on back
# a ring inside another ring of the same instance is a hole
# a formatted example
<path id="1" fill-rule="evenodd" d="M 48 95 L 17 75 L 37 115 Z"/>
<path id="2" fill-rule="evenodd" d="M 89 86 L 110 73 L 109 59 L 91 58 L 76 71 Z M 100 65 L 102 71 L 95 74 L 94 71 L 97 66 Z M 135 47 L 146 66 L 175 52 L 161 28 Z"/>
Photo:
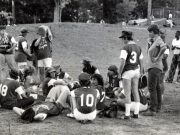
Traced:
<path id="1" fill-rule="evenodd" d="M 90 75 L 79 75 L 80 88 L 71 91 L 73 115 L 81 122 L 92 121 L 96 118 L 96 104 L 99 91 L 90 87 Z M 72 116 L 72 115 L 71 115 Z"/>

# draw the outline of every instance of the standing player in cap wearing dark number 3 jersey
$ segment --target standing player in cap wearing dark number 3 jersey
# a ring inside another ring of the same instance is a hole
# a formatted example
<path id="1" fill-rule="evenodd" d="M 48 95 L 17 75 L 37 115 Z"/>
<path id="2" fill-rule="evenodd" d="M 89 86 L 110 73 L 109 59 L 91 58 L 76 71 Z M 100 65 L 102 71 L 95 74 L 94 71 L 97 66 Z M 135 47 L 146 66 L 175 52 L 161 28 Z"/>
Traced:
<path id="1" fill-rule="evenodd" d="M 135 101 L 133 118 L 139 117 L 140 98 L 138 93 L 138 81 L 140 74 L 143 73 L 143 54 L 141 47 L 133 41 L 131 31 L 122 31 L 122 35 L 119 38 L 121 38 L 124 43 L 120 52 L 119 78 L 122 78 L 126 96 L 125 115 L 122 119 L 130 120 L 131 91 Z"/>

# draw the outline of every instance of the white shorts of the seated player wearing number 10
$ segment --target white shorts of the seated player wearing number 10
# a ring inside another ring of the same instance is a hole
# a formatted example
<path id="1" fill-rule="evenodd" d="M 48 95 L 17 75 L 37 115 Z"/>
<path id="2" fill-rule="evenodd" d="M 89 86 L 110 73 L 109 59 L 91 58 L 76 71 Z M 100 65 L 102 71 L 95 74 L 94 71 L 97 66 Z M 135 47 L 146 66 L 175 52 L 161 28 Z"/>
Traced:
<path id="1" fill-rule="evenodd" d="M 96 110 L 88 114 L 83 114 L 76 108 L 74 109 L 74 117 L 76 120 L 94 120 L 96 118 Z"/>

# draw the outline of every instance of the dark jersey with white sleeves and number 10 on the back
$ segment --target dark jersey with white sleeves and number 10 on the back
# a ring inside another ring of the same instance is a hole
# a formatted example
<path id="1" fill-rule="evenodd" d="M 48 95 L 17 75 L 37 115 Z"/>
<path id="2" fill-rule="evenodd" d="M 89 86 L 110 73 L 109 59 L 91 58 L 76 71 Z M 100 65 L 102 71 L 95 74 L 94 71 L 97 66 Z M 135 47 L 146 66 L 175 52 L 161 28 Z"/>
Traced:
<path id="1" fill-rule="evenodd" d="M 73 94 L 74 93 L 74 94 Z M 88 114 L 96 109 L 99 92 L 93 88 L 78 88 L 72 91 L 72 96 L 75 97 L 76 107 L 79 112 Z"/>

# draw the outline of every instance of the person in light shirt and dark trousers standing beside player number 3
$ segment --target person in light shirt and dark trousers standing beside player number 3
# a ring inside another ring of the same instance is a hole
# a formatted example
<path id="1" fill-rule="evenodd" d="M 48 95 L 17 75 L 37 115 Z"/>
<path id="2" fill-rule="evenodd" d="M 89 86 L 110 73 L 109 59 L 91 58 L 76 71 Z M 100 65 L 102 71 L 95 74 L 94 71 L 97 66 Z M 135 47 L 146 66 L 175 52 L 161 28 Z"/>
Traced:
<path id="1" fill-rule="evenodd" d="M 143 113 L 144 116 L 155 116 L 161 110 L 161 74 L 163 70 L 163 55 L 166 44 L 159 36 L 160 30 L 153 24 L 148 27 L 149 38 L 153 43 L 148 49 L 148 89 L 150 93 L 150 108 Z"/>

